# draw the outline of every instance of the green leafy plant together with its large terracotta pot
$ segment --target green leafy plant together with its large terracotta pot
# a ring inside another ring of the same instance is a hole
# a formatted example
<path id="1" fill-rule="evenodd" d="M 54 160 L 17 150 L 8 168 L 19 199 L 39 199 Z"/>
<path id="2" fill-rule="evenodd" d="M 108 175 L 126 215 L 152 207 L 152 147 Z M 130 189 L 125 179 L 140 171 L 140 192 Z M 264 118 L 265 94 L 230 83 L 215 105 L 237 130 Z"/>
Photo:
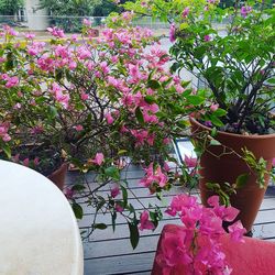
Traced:
<path id="1" fill-rule="evenodd" d="M 272 1 L 235 1 L 221 9 L 219 1 L 153 0 L 125 8 L 170 23 L 172 70 L 194 74 L 211 105 L 191 119 L 202 202 L 209 187 L 221 195 L 227 189 L 251 230 L 275 156 Z"/>

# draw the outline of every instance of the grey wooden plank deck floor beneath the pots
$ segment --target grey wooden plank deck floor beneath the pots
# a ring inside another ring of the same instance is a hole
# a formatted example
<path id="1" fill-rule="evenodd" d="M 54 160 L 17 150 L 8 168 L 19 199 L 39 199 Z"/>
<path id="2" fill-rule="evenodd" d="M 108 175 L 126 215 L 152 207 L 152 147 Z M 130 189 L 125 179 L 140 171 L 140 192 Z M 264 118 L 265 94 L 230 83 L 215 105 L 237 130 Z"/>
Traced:
<path id="1" fill-rule="evenodd" d="M 160 201 L 148 195 L 147 189 L 139 187 L 139 179 L 142 170 L 138 167 L 129 170 L 129 189 L 139 196 L 144 205 L 160 205 Z M 69 180 L 70 182 L 70 180 Z M 182 189 L 176 188 L 172 194 L 179 193 Z M 105 193 L 105 190 L 102 191 Z M 131 204 L 139 208 L 139 202 L 134 196 L 129 194 Z M 166 202 L 173 195 L 166 195 Z M 81 231 L 88 230 L 94 218 L 92 208 L 84 208 L 85 217 L 79 221 Z M 111 226 L 109 215 L 98 215 L 98 221 Z M 152 231 L 143 231 L 139 246 L 133 251 L 129 240 L 128 224 L 123 219 L 118 218 L 116 232 L 111 227 L 106 230 L 96 230 L 88 240 L 84 242 L 85 256 L 85 275 L 105 275 L 105 274 L 151 274 L 153 258 L 156 250 L 157 240 L 162 228 L 166 223 L 180 223 L 176 218 L 165 217 L 160 222 L 158 228 Z M 270 188 L 257 215 L 254 228 L 254 238 L 261 238 L 268 241 L 275 241 L 275 188 Z"/>

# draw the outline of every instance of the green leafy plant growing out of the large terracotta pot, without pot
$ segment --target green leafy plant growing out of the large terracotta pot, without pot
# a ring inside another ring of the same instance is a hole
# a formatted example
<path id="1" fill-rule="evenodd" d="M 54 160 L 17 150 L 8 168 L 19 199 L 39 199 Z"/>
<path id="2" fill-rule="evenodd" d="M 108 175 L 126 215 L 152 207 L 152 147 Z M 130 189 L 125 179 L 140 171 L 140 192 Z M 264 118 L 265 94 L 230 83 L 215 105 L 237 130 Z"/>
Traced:
<path id="1" fill-rule="evenodd" d="M 234 133 L 274 132 L 274 14 L 272 1 L 215 0 L 127 3 L 125 8 L 170 23 L 172 70 L 187 69 L 227 111 L 205 119 Z"/>

